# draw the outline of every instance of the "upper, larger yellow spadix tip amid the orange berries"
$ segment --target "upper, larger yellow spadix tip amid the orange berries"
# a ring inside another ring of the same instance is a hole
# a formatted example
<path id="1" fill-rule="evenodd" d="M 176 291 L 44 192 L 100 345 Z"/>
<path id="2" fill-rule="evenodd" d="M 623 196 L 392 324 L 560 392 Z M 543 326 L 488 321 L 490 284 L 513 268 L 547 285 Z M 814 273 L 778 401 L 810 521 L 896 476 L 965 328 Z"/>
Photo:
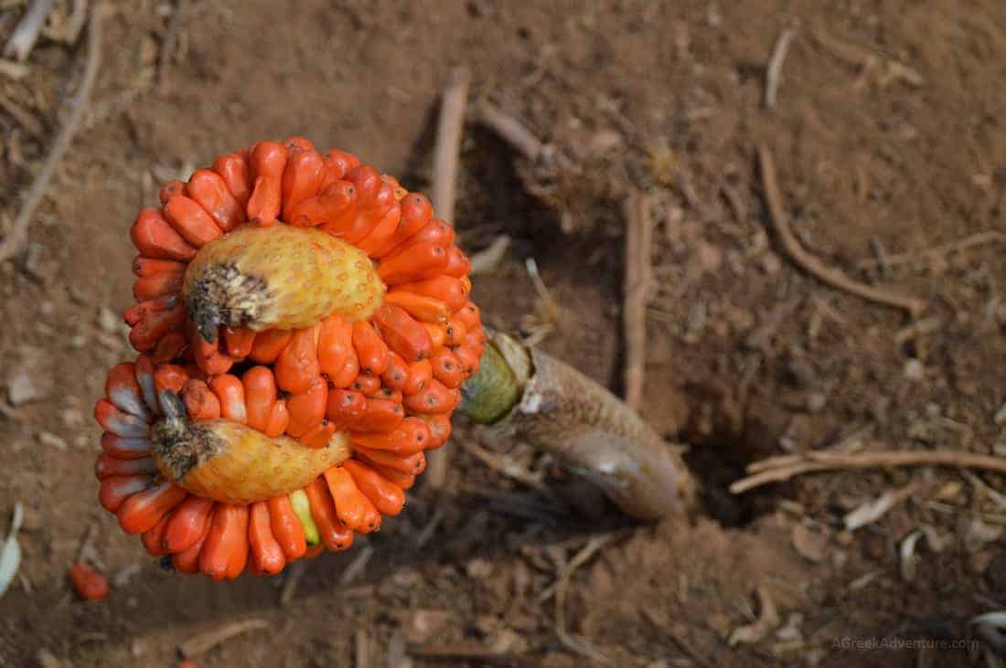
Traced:
<path id="1" fill-rule="evenodd" d="M 332 313 L 370 317 L 384 285 L 366 253 L 313 227 L 243 225 L 199 249 L 182 290 L 206 341 L 236 329 L 309 327 Z"/>

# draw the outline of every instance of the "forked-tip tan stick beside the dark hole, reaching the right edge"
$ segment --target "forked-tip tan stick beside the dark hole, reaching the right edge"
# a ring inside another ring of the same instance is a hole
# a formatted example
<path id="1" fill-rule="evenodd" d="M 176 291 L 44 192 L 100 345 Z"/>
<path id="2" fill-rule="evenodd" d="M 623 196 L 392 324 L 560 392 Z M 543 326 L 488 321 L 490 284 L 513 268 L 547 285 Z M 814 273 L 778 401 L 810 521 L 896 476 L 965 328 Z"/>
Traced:
<path id="1" fill-rule="evenodd" d="M 1006 473 L 1006 459 L 991 455 L 978 455 L 956 450 L 885 450 L 860 454 L 810 452 L 804 455 L 770 457 L 747 467 L 751 473 L 730 485 L 730 491 L 740 494 L 770 482 L 783 482 L 790 478 L 838 469 L 888 468 L 895 466 L 949 466 L 952 468 L 980 469 Z"/>

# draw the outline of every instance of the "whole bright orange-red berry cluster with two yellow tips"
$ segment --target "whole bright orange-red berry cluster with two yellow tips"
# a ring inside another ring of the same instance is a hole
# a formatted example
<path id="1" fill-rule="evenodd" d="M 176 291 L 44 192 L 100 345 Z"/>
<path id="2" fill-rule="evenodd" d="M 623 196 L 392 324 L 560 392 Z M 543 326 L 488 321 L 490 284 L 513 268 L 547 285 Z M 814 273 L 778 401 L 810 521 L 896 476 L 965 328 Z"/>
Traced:
<path id="1" fill-rule="evenodd" d="M 429 200 L 303 138 L 161 190 L 131 236 L 135 362 L 109 374 L 100 502 L 182 573 L 276 574 L 400 512 L 486 344 Z"/>

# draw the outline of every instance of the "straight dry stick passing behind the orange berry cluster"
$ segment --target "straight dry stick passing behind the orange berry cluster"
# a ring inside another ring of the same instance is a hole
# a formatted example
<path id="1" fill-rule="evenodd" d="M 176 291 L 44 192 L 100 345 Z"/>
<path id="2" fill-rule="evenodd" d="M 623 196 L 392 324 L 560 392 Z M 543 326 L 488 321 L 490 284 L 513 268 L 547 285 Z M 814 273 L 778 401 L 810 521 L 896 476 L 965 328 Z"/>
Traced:
<path id="1" fill-rule="evenodd" d="M 468 86 L 472 74 L 466 67 L 451 72 L 441 97 L 440 121 L 437 124 L 437 147 L 434 149 L 433 205 L 444 220 L 454 220 L 455 189 L 458 181 L 458 154 L 461 133 L 468 106 Z M 426 480 L 432 489 L 443 489 L 447 481 L 449 446 L 430 452 Z"/>

